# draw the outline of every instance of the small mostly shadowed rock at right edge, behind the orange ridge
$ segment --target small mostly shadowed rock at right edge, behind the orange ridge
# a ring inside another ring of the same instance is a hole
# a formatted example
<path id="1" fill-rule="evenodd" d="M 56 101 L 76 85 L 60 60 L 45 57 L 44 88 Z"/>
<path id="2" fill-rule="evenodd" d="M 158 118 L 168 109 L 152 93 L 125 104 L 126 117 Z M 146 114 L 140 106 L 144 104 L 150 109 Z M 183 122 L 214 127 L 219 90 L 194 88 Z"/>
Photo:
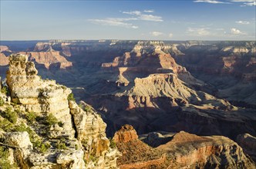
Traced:
<path id="1" fill-rule="evenodd" d="M 243 148 L 244 152 L 256 161 L 256 138 L 251 134 L 239 134 L 236 141 Z"/>

